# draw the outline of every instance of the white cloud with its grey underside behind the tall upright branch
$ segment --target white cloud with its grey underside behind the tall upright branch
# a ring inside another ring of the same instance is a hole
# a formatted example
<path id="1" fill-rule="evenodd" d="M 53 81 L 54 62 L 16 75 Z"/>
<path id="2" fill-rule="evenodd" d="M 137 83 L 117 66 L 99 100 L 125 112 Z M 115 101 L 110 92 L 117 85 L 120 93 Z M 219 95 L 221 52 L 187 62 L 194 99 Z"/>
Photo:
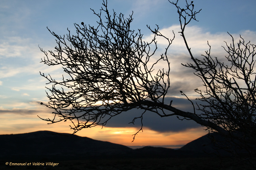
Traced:
<path id="1" fill-rule="evenodd" d="M 175 39 L 168 50 L 168 58 L 170 62 L 170 95 L 180 95 L 180 90 L 186 93 L 186 95 L 191 95 L 191 97 L 197 95 L 194 92 L 195 88 L 204 89 L 202 87 L 201 80 L 193 74 L 194 70 L 191 68 L 187 68 L 181 65 L 181 63 L 191 63 L 191 58 L 189 53 L 185 47 L 184 40 L 182 36 L 180 36 L 180 26 L 174 25 L 169 28 L 159 30 L 162 35 L 173 38 L 173 32 L 175 33 Z M 255 44 L 256 40 L 256 32 L 253 31 L 241 31 L 236 34 L 232 34 L 234 38 L 235 44 L 239 42 L 240 35 L 244 38 L 245 42 L 251 40 L 252 44 Z M 222 46 L 226 46 L 231 43 L 232 38 L 228 33 L 219 32 L 219 33 L 210 33 L 204 31 L 203 28 L 192 26 L 186 27 L 185 37 L 189 48 L 191 48 L 191 52 L 194 57 L 201 57 L 202 54 L 205 54 L 205 51 L 209 50 L 209 46 L 207 45 L 207 41 L 211 46 L 211 56 L 218 57 L 219 61 L 225 60 L 225 55 L 227 53 L 223 49 Z M 145 41 L 151 41 L 153 35 L 148 35 L 144 37 Z M 157 47 L 158 53 L 155 56 L 159 56 L 160 53 L 163 53 L 165 48 L 167 47 L 167 40 L 161 37 L 157 37 Z M 163 65 L 158 65 L 157 69 L 162 69 Z"/>

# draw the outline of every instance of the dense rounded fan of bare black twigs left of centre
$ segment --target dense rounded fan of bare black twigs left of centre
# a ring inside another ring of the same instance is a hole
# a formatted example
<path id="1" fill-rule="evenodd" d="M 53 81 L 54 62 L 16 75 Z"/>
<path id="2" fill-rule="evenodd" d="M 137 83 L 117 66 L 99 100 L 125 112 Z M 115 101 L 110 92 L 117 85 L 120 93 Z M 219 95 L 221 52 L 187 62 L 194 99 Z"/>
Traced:
<path id="1" fill-rule="evenodd" d="M 60 117 L 46 120 L 52 123 L 71 120 L 74 125 L 71 128 L 77 132 L 105 125 L 111 117 L 133 108 L 150 110 L 162 116 L 156 110 L 159 106 L 150 105 L 162 105 L 170 87 L 170 63 L 166 53 L 173 39 L 161 35 L 157 27 L 152 30 L 152 41 L 144 42 L 140 30 L 138 33 L 130 30 L 132 15 L 125 19 L 123 14 L 117 16 L 114 12 L 111 16 L 105 1 L 101 8 L 106 14 L 105 21 L 101 13 L 92 11 L 99 17 L 97 27 L 86 26 L 83 22 L 82 26 L 75 24 L 77 35 L 71 35 L 69 31 L 67 37 L 49 30 L 57 38 L 55 52 L 49 51 L 54 59 L 40 48 L 46 56 L 42 60 L 44 64 L 62 65 L 69 75 L 69 79 L 63 77 L 62 81 L 56 81 L 50 75 L 40 73 L 53 83 L 52 89 L 48 89 L 51 95 L 47 93 L 49 102 L 45 105 Z M 154 56 L 156 36 L 164 37 L 169 43 L 158 59 Z M 153 74 L 160 64 L 165 64 L 167 69 Z M 57 86 L 65 89 L 59 90 Z M 142 119 L 143 114 L 138 118 Z"/>

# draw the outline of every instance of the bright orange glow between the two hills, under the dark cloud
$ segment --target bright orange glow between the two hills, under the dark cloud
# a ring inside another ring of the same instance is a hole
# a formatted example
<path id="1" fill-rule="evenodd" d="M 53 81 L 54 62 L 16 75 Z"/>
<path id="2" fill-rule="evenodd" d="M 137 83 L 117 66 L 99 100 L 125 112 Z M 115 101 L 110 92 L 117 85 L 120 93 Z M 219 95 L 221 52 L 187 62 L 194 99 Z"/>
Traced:
<path id="1" fill-rule="evenodd" d="M 109 141 L 112 143 L 118 143 L 125 146 L 147 146 L 147 145 L 186 145 L 188 142 L 195 140 L 208 132 L 202 127 L 188 129 L 182 132 L 168 132 L 159 133 L 157 131 L 143 128 L 143 132 L 140 132 L 135 136 L 133 140 L 133 134 L 135 134 L 138 128 L 109 128 L 109 127 L 94 127 L 77 132 L 79 136 L 86 136 L 97 140 Z M 156 144 L 157 143 L 157 144 Z"/>

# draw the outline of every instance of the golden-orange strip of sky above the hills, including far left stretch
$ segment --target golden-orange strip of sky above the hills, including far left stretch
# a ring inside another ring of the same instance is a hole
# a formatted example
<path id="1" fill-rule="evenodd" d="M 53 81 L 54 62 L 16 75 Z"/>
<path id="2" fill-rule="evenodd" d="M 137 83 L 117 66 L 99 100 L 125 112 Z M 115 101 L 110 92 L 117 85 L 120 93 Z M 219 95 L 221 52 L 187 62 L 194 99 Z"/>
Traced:
<path id="1" fill-rule="evenodd" d="M 45 116 L 49 114 L 45 114 Z M 9 117 L 15 117 L 12 122 L 7 121 Z M 0 134 L 21 134 L 35 131 L 53 131 L 57 133 L 69 133 L 69 122 L 59 122 L 54 124 L 46 124 L 36 115 L 27 116 L 24 118 L 20 114 L 6 114 L 1 116 Z M 166 132 L 159 133 L 148 128 L 143 128 L 143 132 L 136 135 L 133 140 L 133 134 L 139 130 L 138 127 L 134 128 L 111 128 L 107 126 L 95 126 L 93 128 L 83 129 L 77 132 L 75 135 L 82 137 L 89 137 L 95 140 L 109 141 L 112 143 L 118 143 L 125 146 L 147 146 L 147 145 L 185 145 L 191 140 L 197 139 L 205 134 L 207 131 L 202 127 L 187 129 L 181 132 Z"/>

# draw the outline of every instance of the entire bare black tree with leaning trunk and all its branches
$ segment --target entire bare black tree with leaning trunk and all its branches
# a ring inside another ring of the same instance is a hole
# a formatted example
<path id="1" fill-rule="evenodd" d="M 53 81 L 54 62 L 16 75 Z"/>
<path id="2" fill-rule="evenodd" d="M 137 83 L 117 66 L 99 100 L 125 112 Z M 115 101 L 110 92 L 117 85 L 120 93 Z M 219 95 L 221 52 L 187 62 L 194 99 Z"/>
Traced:
<path id="1" fill-rule="evenodd" d="M 226 44 L 227 63 L 211 57 L 209 51 L 203 58 L 195 58 L 191 53 L 185 38 L 185 27 L 191 20 L 196 20 L 193 1 L 181 8 L 176 2 L 181 26 L 181 36 L 184 39 L 187 51 L 191 57 L 190 64 L 183 64 L 195 70 L 195 75 L 201 78 L 205 90 L 195 91 L 200 95 L 204 104 L 193 103 L 182 91 L 194 107 L 194 112 L 185 112 L 165 103 L 165 97 L 170 87 L 170 62 L 167 50 L 175 37 L 170 39 L 158 30 L 148 28 L 154 34 L 151 42 L 142 40 L 140 30 L 136 33 L 130 30 L 132 15 L 124 18 L 121 13 L 112 16 L 108 11 L 107 2 L 103 1 L 99 21 L 96 27 L 74 24 L 76 35 L 57 38 L 55 51 L 44 51 L 42 59 L 48 66 L 61 65 L 68 78 L 53 79 L 50 75 L 40 74 L 45 77 L 52 88 L 47 88 L 49 99 L 43 104 L 54 110 L 53 119 L 43 119 L 50 123 L 70 120 L 74 133 L 96 125 L 105 125 L 113 116 L 130 109 L 142 109 L 143 112 L 136 119 L 141 119 L 143 128 L 143 115 L 151 111 L 160 117 L 179 116 L 181 119 L 194 120 L 205 126 L 211 132 L 230 139 L 230 142 L 239 143 L 243 151 L 255 156 L 256 120 L 255 120 L 255 72 L 254 56 L 255 45 L 245 43 L 240 37 L 239 43 L 232 38 L 232 44 Z M 105 17 L 102 17 L 105 13 Z M 156 37 L 166 39 L 168 45 L 162 55 L 156 59 Z M 51 56 L 52 58 L 50 58 Z M 154 56 L 154 58 L 153 58 Z M 155 72 L 155 68 L 161 66 Z M 138 134 L 134 134 L 135 136 Z"/>

